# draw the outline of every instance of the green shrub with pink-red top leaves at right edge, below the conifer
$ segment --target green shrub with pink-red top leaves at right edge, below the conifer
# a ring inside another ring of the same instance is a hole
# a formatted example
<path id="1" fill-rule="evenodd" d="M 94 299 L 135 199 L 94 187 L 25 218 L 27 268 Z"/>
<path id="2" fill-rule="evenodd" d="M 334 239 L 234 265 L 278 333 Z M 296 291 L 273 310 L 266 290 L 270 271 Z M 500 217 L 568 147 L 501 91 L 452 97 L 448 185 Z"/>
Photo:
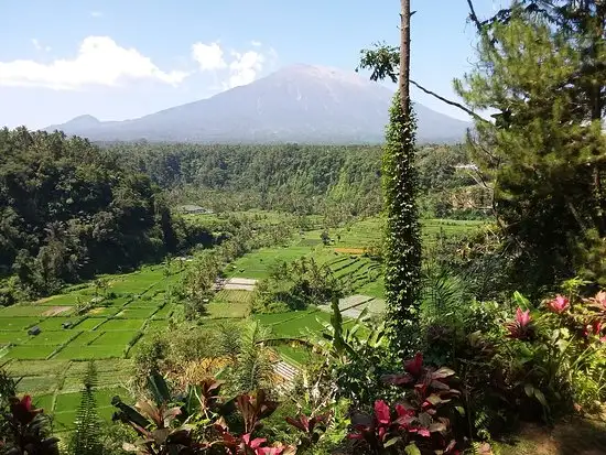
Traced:
<path id="1" fill-rule="evenodd" d="M 522 297 L 523 299 L 523 297 Z M 528 302 L 527 302 L 528 303 Z M 606 399 L 606 292 L 580 299 L 556 294 L 534 311 L 518 307 L 505 322 L 507 381 L 542 405 L 591 410 Z"/>

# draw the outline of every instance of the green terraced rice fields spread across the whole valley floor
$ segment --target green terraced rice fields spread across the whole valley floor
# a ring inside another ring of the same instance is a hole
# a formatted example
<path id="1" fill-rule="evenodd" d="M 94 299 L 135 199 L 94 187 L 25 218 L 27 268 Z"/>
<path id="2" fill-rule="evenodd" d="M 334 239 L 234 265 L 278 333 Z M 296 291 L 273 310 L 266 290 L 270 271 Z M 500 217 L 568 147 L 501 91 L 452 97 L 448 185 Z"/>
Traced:
<path id="1" fill-rule="evenodd" d="M 269 214 L 275 217 L 275 214 Z M 212 216 L 199 215 L 196 223 Z M 267 278 L 278 260 L 314 258 L 327 264 L 339 280 L 353 283 L 357 295 L 343 299 L 340 307 L 347 317 L 357 317 L 366 306 L 382 311 L 379 263 L 361 253 L 379 239 L 379 219 L 368 219 L 347 228 L 331 230 L 340 240 L 324 246 L 321 230 L 293 236 L 286 245 L 262 248 L 235 260 L 225 269 L 226 278 L 216 288 L 207 304 L 207 315 L 199 324 L 216 319 L 245 318 L 251 315 L 255 283 Z M 468 232 L 479 226 L 472 221 L 426 220 L 424 238 L 431 243 L 441 232 Z M 138 346 L 156 331 L 169 327 L 171 315 L 178 307 L 172 289 L 182 279 L 184 268 L 164 264 L 147 266 L 128 274 L 100 277 L 86 285 L 67 289 L 59 295 L 0 310 L 0 365 L 20 378 L 20 390 L 35 393 L 36 403 L 55 416 L 58 429 L 74 424 L 79 397 L 80 377 L 87 360 L 95 360 L 99 371 L 98 402 L 109 418 L 109 399 L 125 387 Z M 359 295 L 364 294 L 364 295 Z M 100 304 L 86 313 L 78 305 L 91 300 Z M 318 305 L 302 312 L 253 315 L 269 327 L 274 337 L 296 337 L 305 331 L 321 331 L 317 322 L 329 319 L 329 307 Z M 28 335 L 32 327 L 39 335 Z M 292 365 L 303 361 L 306 353 L 288 345 L 278 346 L 278 354 Z"/>

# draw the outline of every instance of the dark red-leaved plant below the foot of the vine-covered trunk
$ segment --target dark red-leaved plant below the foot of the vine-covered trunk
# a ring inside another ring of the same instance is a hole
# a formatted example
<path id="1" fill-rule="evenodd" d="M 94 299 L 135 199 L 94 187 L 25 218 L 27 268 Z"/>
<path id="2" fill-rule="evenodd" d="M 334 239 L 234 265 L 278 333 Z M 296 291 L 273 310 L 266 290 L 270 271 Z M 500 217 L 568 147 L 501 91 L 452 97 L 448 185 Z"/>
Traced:
<path id="1" fill-rule="evenodd" d="M 378 400 L 372 414 L 355 414 L 348 437 L 376 454 L 399 453 L 407 447 L 421 454 L 458 454 L 451 436 L 447 411 L 452 408 L 446 407 L 461 394 L 450 386 L 453 377 L 450 368 L 436 370 L 423 365 L 423 356 L 418 353 L 404 362 L 404 372 L 382 378 L 386 383 L 403 388 L 403 399 L 393 408 Z"/>

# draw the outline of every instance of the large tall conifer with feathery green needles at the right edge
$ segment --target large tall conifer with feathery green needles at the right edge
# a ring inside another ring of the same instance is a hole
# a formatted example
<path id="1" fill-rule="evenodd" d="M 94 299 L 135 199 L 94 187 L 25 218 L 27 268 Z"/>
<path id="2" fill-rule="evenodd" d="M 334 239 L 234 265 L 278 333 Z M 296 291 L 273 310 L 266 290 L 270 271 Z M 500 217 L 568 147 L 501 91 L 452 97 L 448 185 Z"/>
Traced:
<path id="1" fill-rule="evenodd" d="M 476 122 L 476 163 L 517 248 L 520 282 L 606 282 L 606 3 L 523 0 L 480 21 L 478 63 L 455 83 Z"/>

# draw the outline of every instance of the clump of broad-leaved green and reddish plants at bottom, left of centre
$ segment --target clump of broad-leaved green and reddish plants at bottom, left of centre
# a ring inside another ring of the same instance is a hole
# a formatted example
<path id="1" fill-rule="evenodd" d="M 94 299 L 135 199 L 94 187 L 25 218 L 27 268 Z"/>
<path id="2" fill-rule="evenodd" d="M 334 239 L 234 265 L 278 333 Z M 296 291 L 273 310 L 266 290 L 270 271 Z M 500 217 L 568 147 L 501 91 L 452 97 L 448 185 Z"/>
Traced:
<path id="1" fill-rule="evenodd" d="M 112 400 L 118 409 L 113 420 L 131 426 L 138 434 L 133 443 L 125 444 L 129 452 L 142 455 L 248 455 L 294 454 L 294 447 L 281 443 L 267 445 L 267 440 L 253 437 L 271 416 L 278 403 L 263 390 L 240 393 L 226 399 L 220 396 L 221 382 L 208 378 L 190 386 L 184 397 L 176 397 L 159 375 L 149 378 L 153 400 L 139 400 L 134 407 L 119 397 Z"/>

